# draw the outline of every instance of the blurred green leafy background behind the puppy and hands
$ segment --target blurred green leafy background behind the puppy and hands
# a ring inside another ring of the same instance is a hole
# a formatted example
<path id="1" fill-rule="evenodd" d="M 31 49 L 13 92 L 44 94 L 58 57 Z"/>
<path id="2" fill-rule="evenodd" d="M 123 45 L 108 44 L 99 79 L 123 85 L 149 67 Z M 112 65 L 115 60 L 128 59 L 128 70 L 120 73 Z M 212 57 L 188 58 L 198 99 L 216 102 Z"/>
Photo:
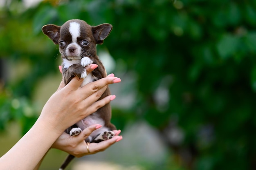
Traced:
<path id="1" fill-rule="evenodd" d="M 1 155 L 61 81 L 58 46 L 41 27 L 77 18 L 113 25 L 97 49 L 122 79 L 110 88 L 124 140 L 99 159 L 144 170 L 256 169 L 256 0 L 34 2 L 0 1 Z M 49 153 L 41 169 L 65 156 Z"/>

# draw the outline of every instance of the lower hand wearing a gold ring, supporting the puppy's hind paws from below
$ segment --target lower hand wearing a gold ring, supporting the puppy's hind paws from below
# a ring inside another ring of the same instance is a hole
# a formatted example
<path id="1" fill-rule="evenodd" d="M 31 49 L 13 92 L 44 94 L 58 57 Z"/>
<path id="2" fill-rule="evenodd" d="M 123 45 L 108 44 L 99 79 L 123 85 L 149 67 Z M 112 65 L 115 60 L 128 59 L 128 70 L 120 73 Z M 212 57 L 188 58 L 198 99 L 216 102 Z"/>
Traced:
<path id="1" fill-rule="evenodd" d="M 102 126 L 99 124 L 89 126 L 88 128 L 85 128 L 77 136 L 71 136 L 71 135 L 68 135 L 66 132 L 63 132 L 63 134 L 60 137 L 58 137 L 58 139 L 54 142 L 54 144 L 52 145 L 52 148 L 63 150 L 75 157 L 82 157 L 84 155 L 95 154 L 97 152 L 106 150 L 112 144 L 115 144 L 115 142 L 118 142 L 123 139 L 122 136 L 118 136 L 121 130 L 113 130 L 113 132 L 115 133 L 115 136 L 112 139 L 101 141 L 99 143 L 90 143 L 90 145 L 88 146 L 88 149 L 90 150 L 90 152 L 88 152 L 87 150 L 88 144 L 85 142 L 85 139 L 94 130 L 101 127 Z"/>

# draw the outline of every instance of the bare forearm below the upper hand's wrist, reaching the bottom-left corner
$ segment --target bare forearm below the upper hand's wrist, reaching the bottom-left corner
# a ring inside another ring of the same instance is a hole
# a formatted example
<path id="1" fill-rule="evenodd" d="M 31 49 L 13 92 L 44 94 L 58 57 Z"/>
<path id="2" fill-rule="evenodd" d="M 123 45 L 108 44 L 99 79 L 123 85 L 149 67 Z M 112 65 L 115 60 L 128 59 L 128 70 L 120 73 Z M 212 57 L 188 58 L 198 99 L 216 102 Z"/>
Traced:
<path id="1" fill-rule="evenodd" d="M 43 121 L 34 126 L 0 158 L 0 170 L 34 170 L 60 134 Z"/>

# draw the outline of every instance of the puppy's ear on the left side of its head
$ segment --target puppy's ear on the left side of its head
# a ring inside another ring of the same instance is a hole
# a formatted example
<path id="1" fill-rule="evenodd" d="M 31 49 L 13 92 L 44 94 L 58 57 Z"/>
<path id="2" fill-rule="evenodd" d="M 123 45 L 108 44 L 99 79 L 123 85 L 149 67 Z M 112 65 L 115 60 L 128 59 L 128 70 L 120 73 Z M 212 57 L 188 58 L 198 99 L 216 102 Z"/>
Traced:
<path id="1" fill-rule="evenodd" d="M 58 44 L 58 39 L 60 38 L 60 29 L 60 26 L 54 24 L 48 24 L 42 27 L 43 33 L 51 38 L 54 44 Z"/>

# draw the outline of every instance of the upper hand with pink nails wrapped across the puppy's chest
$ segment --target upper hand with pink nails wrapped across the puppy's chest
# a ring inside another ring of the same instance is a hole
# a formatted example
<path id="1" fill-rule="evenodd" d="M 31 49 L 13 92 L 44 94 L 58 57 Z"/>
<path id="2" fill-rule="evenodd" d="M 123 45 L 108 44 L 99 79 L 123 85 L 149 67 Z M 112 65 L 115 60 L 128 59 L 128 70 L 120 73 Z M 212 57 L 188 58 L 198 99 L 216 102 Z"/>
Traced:
<path id="1" fill-rule="evenodd" d="M 85 68 L 90 72 L 97 68 L 97 65 L 95 67 L 95 64 L 90 64 Z M 58 90 L 43 107 L 38 118 L 44 119 L 45 126 L 52 126 L 59 135 L 66 128 L 96 112 L 99 108 L 115 99 L 115 95 L 110 95 L 97 101 L 109 84 L 119 83 L 121 79 L 115 77 L 114 74 L 110 74 L 105 78 L 80 87 L 82 82 L 83 79 L 74 77 L 65 86 L 62 81 Z"/>

